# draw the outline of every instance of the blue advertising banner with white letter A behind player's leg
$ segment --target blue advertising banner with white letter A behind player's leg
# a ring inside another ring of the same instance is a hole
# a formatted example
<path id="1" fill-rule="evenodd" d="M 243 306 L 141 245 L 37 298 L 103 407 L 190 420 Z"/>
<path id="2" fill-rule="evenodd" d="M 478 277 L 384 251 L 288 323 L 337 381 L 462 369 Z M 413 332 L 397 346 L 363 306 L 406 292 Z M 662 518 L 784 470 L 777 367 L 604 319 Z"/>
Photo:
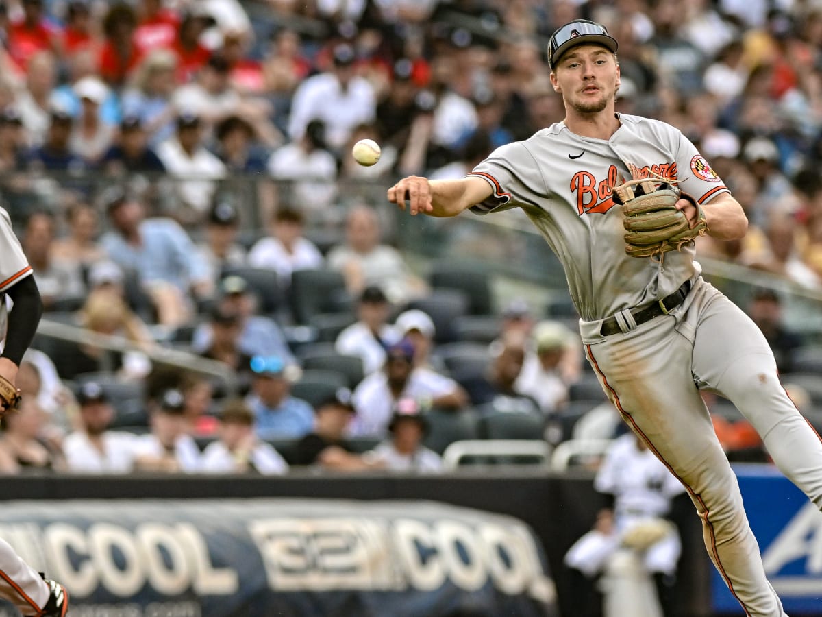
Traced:
<path id="1" fill-rule="evenodd" d="M 773 466 L 735 466 L 765 573 L 789 615 L 822 615 L 822 513 Z M 744 615 L 713 570 L 713 608 Z"/>

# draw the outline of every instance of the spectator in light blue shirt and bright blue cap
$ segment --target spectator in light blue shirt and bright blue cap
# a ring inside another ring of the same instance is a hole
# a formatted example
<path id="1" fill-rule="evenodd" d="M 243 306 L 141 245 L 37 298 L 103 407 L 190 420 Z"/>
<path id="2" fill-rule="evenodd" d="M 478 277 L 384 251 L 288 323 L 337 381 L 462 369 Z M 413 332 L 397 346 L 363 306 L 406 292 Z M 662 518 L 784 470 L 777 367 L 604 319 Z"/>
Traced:
<path id="1" fill-rule="evenodd" d="M 302 438 L 312 431 L 314 410 L 291 394 L 293 369 L 276 355 L 254 356 L 252 391 L 246 398 L 261 439 Z"/>

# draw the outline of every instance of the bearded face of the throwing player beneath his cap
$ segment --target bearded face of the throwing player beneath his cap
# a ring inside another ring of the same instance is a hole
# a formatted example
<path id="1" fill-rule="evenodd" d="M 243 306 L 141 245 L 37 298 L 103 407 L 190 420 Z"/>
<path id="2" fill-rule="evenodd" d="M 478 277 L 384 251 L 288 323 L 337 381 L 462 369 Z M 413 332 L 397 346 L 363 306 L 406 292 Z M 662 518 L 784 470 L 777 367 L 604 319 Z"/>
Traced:
<path id="1" fill-rule="evenodd" d="M 566 109 L 577 114 L 598 114 L 617 96 L 620 71 L 617 59 L 599 45 L 579 45 L 560 58 L 551 73 L 554 90 Z"/>

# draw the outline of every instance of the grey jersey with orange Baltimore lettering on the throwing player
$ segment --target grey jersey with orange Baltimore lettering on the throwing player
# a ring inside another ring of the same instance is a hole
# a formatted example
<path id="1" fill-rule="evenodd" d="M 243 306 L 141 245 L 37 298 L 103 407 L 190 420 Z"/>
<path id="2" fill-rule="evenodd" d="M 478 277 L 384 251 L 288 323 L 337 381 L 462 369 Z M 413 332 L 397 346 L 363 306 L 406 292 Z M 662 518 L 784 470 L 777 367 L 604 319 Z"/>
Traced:
<path id="1" fill-rule="evenodd" d="M 520 206 L 559 257 L 571 298 L 587 320 L 664 298 L 700 272 L 693 247 L 667 253 L 662 261 L 627 256 L 612 186 L 659 174 L 677 179 L 700 203 L 727 193 L 676 128 L 638 116 L 620 120 L 607 141 L 553 124 L 501 146 L 469 174 L 486 179 L 494 190 L 472 210 L 483 214 Z"/>

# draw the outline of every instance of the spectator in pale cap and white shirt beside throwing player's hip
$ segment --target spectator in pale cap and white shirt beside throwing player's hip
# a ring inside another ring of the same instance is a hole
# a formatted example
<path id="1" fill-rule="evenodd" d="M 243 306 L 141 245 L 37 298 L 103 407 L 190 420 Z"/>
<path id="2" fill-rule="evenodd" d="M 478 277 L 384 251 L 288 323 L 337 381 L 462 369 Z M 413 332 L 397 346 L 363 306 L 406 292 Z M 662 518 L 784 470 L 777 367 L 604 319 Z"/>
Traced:
<path id="1" fill-rule="evenodd" d="M 533 354 L 527 354 L 514 384 L 517 392 L 533 397 L 545 415 L 555 414 L 568 401 L 568 383 L 562 360 L 573 338 L 560 322 L 539 322 L 533 329 Z"/>

